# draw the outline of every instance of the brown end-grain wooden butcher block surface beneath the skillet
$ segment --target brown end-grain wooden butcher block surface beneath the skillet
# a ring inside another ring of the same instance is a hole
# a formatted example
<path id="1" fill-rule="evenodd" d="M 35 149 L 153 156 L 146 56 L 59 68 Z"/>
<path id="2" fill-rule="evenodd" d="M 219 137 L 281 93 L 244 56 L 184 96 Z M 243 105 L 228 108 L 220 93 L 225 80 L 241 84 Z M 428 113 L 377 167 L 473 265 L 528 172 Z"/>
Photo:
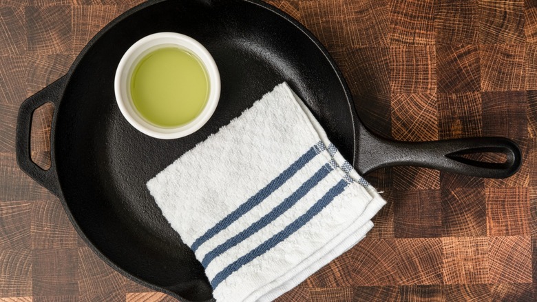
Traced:
<path id="1" fill-rule="evenodd" d="M 173 300 L 107 267 L 15 161 L 21 102 L 142 1 L 124 2 L 0 0 L 0 301 Z M 268 2 L 328 48 L 379 134 L 497 135 L 524 154 L 503 180 L 422 168 L 368 175 L 388 200 L 375 228 L 278 301 L 536 301 L 537 1 Z M 32 156 L 42 165 L 51 111 L 34 116 Z"/>

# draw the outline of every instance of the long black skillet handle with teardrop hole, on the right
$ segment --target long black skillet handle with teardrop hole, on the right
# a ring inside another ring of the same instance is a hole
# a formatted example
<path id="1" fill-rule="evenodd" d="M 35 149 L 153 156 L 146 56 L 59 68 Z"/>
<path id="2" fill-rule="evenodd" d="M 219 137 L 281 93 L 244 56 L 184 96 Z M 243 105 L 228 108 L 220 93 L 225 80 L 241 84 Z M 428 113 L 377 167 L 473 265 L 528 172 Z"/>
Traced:
<path id="1" fill-rule="evenodd" d="M 504 163 L 489 163 L 465 159 L 461 155 L 498 152 L 505 154 Z M 404 142 L 392 141 L 360 129 L 358 171 L 396 165 L 414 165 L 473 177 L 502 179 L 510 177 L 520 168 L 522 154 L 518 145 L 503 137 L 475 137 L 444 141 Z"/>

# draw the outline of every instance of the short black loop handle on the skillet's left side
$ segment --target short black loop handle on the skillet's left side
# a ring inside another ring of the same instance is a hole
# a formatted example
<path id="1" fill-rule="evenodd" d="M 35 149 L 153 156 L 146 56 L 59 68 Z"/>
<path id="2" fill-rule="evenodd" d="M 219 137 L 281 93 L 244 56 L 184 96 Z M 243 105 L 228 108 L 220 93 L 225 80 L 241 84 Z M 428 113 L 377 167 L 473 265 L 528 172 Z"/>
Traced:
<path id="1" fill-rule="evenodd" d="M 50 152 L 54 153 L 54 144 L 52 143 L 54 141 L 54 125 L 56 124 L 58 103 L 63 95 L 63 89 L 65 88 L 66 83 L 67 77 L 61 77 L 54 81 L 54 83 L 43 88 L 43 90 L 32 95 L 32 97 L 23 101 L 21 108 L 19 108 L 19 117 L 17 117 L 17 163 L 21 170 L 56 196 L 60 195 L 60 186 L 58 175 L 56 174 L 54 156 L 50 157 L 51 165 L 48 170 L 41 169 L 39 165 L 36 165 L 32 161 L 30 157 L 30 128 L 32 126 L 32 115 L 34 114 L 34 110 L 44 103 L 53 103 L 54 114 L 52 115 L 52 130 L 50 131 Z"/>

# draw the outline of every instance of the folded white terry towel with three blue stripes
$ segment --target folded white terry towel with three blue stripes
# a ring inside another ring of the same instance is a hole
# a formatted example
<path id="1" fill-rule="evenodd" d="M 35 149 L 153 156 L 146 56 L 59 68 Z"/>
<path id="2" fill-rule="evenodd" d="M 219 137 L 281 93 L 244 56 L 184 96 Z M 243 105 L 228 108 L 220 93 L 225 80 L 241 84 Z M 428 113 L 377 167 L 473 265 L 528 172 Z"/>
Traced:
<path id="1" fill-rule="evenodd" d="M 216 301 L 272 301 L 358 243 L 386 203 L 286 83 L 147 183 Z"/>

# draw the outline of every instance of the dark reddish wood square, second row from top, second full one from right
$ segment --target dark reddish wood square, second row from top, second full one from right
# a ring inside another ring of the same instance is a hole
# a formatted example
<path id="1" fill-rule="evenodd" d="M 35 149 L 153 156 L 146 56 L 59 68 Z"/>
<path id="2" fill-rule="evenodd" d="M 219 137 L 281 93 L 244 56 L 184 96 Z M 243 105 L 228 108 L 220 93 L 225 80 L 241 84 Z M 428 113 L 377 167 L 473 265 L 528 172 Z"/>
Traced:
<path id="1" fill-rule="evenodd" d="M 436 46 L 438 92 L 479 92 L 481 73 L 475 45 Z"/>

